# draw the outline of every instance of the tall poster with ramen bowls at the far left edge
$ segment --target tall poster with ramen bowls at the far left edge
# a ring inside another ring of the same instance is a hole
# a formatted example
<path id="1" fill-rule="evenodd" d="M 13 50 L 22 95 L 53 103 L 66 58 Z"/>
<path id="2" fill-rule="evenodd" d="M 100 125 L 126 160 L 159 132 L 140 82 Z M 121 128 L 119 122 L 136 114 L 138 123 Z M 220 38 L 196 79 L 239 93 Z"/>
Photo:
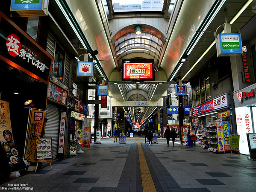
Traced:
<path id="1" fill-rule="evenodd" d="M 12 135 L 9 102 L 0 100 L 0 142 L 6 160 L 14 171 L 16 166 L 23 165 L 23 160 L 18 156 Z"/>

